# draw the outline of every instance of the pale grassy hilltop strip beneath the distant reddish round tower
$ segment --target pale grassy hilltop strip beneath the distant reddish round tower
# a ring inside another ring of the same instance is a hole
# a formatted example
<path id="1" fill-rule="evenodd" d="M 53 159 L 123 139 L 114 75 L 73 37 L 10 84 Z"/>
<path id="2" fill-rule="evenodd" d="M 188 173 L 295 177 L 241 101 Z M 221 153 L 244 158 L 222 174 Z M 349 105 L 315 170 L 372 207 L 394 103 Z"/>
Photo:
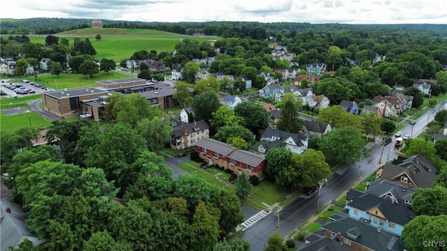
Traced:
<path id="1" fill-rule="evenodd" d="M 85 28 L 57 33 L 59 36 L 77 35 L 77 36 L 95 36 L 96 34 L 112 36 L 185 36 L 183 34 L 171 33 L 167 31 L 156 31 L 154 29 L 126 29 L 126 28 Z"/>

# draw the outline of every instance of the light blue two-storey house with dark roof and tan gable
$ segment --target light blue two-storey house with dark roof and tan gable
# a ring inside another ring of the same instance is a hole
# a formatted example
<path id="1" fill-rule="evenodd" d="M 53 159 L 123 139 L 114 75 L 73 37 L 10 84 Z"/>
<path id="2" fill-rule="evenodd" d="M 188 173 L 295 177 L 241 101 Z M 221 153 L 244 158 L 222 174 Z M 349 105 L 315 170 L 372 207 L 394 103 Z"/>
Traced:
<path id="1" fill-rule="evenodd" d="M 372 227 L 380 227 L 397 236 L 402 234 L 404 225 L 416 217 L 416 213 L 409 206 L 397 203 L 389 197 L 377 197 L 350 189 L 346 201 L 348 204 L 345 208 L 349 211 L 350 218 Z"/>

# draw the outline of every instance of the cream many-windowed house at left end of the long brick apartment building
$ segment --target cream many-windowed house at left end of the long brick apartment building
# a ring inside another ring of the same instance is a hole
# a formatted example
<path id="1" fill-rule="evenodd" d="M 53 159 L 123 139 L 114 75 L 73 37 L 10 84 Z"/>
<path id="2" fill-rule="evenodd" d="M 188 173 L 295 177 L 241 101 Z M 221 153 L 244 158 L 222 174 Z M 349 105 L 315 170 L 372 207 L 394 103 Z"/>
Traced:
<path id="1" fill-rule="evenodd" d="M 194 146 L 200 139 L 210 137 L 210 126 L 201 120 L 193 123 L 181 125 L 173 130 L 170 139 L 170 147 L 172 149 L 187 149 Z"/>

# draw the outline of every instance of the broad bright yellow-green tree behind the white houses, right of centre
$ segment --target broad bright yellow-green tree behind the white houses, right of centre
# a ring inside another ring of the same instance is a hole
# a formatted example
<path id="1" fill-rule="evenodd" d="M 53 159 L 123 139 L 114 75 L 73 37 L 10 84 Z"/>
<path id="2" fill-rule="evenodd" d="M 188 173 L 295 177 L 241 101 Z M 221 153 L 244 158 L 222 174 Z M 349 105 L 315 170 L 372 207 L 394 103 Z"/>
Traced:
<path id="1" fill-rule="evenodd" d="M 330 123 L 332 128 L 351 126 L 361 129 L 360 117 L 346 112 L 341 106 L 334 105 L 318 112 L 318 121 Z"/>

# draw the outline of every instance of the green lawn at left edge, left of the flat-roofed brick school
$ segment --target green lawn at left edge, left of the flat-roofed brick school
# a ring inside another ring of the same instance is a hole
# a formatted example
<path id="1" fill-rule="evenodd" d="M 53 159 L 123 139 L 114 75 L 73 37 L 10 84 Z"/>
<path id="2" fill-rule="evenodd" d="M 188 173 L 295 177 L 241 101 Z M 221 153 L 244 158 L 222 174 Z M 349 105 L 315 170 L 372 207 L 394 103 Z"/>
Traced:
<path id="1" fill-rule="evenodd" d="M 31 127 L 42 128 L 51 125 L 43 116 L 36 112 L 27 112 L 24 114 L 17 114 L 6 116 L 0 112 L 0 128 L 2 132 L 13 132 L 20 128 L 29 128 L 29 121 L 31 120 Z"/>

